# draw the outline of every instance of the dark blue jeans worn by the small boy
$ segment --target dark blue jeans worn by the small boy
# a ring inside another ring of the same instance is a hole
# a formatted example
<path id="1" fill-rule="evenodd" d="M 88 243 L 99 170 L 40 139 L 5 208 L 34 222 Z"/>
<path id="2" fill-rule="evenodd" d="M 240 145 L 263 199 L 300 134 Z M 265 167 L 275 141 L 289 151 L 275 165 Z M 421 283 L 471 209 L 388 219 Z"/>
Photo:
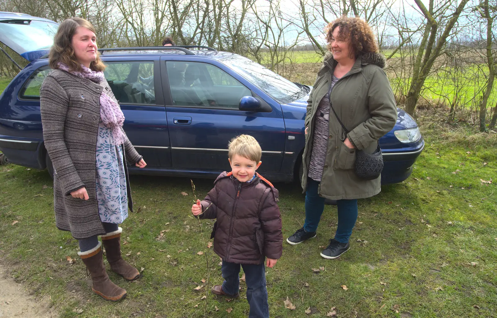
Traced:
<path id="1" fill-rule="evenodd" d="M 240 288 L 240 265 L 245 272 L 247 283 L 247 301 L 250 305 L 248 318 L 269 318 L 269 305 L 267 304 L 266 269 L 264 262 L 259 265 L 236 264 L 223 261 L 223 292 L 236 295 Z"/>

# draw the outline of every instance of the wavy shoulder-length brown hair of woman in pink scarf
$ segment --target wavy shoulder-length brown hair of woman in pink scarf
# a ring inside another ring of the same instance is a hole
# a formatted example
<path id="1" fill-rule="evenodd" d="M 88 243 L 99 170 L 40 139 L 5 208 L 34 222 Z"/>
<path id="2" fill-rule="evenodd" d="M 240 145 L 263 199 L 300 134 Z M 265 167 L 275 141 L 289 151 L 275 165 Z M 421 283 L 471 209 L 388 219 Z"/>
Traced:
<path id="1" fill-rule="evenodd" d="M 71 17 L 62 21 L 55 34 L 54 44 L 50 49 L 49 63 L 51 68 L 56 69 L 59 63 L 64 63 L 69 66 L 70 71 L 83 71 L 81 63 L 76 60 L 74 49 L 71 45 L 73 36 L 79 26 L 83 26 L 91 32 L 96 33 L 93 25 L 83 18 Z M 90 69 L 96 72 L 105 69 L 105 64 L 100 60 L 100 53 L 96 53 L 96 59 L 90 63 Z"/>

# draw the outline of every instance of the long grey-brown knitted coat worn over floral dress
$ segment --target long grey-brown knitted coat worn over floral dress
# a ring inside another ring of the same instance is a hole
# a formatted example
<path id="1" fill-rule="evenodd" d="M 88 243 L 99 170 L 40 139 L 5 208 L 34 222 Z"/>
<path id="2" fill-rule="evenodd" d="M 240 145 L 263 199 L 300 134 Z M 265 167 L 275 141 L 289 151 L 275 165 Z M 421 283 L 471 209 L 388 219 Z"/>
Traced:
<path id="1" fill-rule="evenodd" d="M 116 103 L 117 100 L 107 81 L 99 84 L 54 70 L 40 90 L 43 139 L 54 166 L 55 221 L 59 229 L 71 231 L 77 239 L 105 234 L 95 189 L 100 94 L 105 90 Z M 123 153 L 130 164 L 142 158 L 126 134 Z M 125 171 L 128 206 L 133 211 L 126 165 Z M 71 192 L 82 187 L 88 193 L 87 201 L 71 196 Z"/>

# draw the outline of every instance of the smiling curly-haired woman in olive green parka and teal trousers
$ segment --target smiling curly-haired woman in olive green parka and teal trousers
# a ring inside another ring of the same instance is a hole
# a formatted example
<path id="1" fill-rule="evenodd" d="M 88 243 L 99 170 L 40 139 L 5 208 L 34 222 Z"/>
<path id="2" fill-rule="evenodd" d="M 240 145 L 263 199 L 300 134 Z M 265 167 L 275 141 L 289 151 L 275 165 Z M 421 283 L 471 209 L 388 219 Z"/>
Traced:
<path id="1" fill-rule="evenodd" d="M 395 125 L 397 107 L 383 71 L 385 58 L 378 53 L 370 26 L 360 18 L 340 17 L 325 32 L 330 52 L 318 72 L 305 119 L 302 188 L 306 219 L 287 242 L 296 245 L 315 237 L 325 199 L 336 200 L 336 233 L 321 252 L 322 257 L 333 259 L 350 248 L 357 199 L 381 190 L 380 177 L 363 180 L 355 175 L 356 151 L 372 154 L 376 150 L 378 139 Z"/>

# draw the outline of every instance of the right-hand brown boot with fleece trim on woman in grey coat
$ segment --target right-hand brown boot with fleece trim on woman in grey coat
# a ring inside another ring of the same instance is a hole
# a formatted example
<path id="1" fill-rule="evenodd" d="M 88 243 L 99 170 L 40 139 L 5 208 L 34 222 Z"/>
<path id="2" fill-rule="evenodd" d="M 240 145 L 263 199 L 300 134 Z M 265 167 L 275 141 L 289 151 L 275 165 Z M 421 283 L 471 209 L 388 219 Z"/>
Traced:
<path id="1" fill-rule="evenodd" d="M 140 272 L 124 261 L 121 256 L 121 232 L 119 227 L 117 231 L 107 233 L 102 237 L 102 243 L 105 247 L 105 256 L 109 262 L 110 268 L 129 281 L 134 281 L 140 277 Z"/>

